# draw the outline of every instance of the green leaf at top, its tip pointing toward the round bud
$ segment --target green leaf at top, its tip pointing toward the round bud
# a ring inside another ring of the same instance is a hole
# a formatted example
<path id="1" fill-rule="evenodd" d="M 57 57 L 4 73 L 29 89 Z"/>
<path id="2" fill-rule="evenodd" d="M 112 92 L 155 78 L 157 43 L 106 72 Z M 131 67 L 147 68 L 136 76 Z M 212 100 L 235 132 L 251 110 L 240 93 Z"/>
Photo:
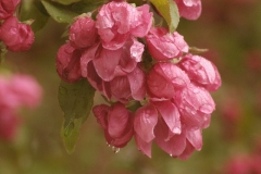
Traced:
<path id="1" fill-rule="evenodd" d="M 47 12 L 52 16 L 53 20 L 55 20 L 59 23 L 73 23 L 73 18 L 78 13 L 72 11 L 70 5 L 62 5 L 55 2 L 41 0 L 41 3 L 46 8 Z"/>

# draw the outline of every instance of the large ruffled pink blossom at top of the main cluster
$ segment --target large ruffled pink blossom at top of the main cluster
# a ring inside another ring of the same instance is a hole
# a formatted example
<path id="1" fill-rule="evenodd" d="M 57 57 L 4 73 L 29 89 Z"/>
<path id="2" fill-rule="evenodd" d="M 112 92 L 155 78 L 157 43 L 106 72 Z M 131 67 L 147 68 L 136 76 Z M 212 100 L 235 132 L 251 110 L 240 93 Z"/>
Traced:
<path id="1" fill-rule="evenodd" d="M 135 8 L 127 2 L 110 2 L 102 5 L 96 27 L 102 46 L 116 50 L 124 46 L 129 36 L 144 37 L 152 25 L 152 13 L 149 5 Z"/>

